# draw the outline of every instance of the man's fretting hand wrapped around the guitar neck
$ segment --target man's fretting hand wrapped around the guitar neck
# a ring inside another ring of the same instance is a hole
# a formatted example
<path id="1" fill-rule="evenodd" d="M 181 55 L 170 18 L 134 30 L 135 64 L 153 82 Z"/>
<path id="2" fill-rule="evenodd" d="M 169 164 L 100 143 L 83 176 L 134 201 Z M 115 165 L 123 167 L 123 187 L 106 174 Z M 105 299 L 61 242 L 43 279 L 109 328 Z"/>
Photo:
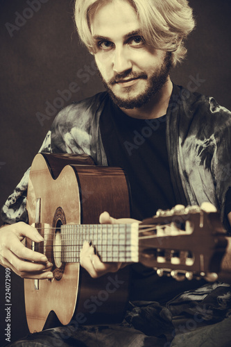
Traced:
<path id="1" fill-rule="evenodd" d="M 140 223 L 140 221 L 131 218 L 114 219 L 110 217 L 108 212 L 103 212 L 100 215 L 99 222 L 101 224 Z M 98 255 L 94 253 L 94 246 L 90 246 L 86 241 L 80 251 L 80 264 L 85 270 L 87 270 L 92 278 L 98 278 L 108 272 L 117 272 L 119 269 L 122 269 L 127 265 L 127 263 L 122 262 L 101 262 Z"/>

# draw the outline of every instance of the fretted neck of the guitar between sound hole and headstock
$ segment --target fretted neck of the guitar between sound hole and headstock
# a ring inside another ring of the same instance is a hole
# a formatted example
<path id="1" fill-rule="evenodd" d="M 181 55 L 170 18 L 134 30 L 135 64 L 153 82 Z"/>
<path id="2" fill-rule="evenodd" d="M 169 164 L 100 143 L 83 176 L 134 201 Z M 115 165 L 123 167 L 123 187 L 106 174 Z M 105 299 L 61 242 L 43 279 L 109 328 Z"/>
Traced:
<path id="1" fill-rule="evenodd" d="M 62 262 L 80 262 L 85 241 L 102 262 L 138 262 L 139 226 L 132 224 L 69 224 L 61 226 Z"/>

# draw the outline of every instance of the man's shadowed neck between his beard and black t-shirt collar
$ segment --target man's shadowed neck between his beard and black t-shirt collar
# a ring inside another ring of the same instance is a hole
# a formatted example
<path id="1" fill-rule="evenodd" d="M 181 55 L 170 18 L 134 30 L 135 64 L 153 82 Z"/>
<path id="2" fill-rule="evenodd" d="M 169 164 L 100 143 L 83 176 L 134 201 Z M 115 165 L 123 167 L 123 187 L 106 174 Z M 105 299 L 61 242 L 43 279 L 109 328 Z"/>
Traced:
<path id="1" fill-rule="evenodd" d="M 169 100 L 173 91 L 173 83 L 168 77 L 162 89 L 153 96 L 153 98 L 141 108 L 121 110 L 129 117 L 137 119 L 155 119 L 166 115 L 166 110 L 169 106 Z"/>

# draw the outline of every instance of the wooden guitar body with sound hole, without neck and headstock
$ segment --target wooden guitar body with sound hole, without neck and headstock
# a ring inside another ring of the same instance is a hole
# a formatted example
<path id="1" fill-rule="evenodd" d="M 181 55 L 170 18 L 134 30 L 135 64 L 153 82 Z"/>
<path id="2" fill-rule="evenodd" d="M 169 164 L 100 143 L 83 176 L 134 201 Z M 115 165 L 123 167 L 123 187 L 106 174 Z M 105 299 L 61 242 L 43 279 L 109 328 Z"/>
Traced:
<path id="1" fill-rule="evenodd" d="M 29 223 L 44 237 L 35 248 L 29 239 L 26 246 L 48 257 L 54 275 L 52 280 L 24 280 L 29 330 L 42 330 L 51 311 L 63 325 L 71 319 L 85 324 L 121 321 L 128 299 L 128 270 L 93 279 L 79 262 L 62 262 L 53 244 L 59 242 L 63 224 L 98 224 L 105 210 L 115 218 L 130 215 L 123 171 L 97 167 L 86 155 L 39 153 L 31 167 L 26 209 Z"/>

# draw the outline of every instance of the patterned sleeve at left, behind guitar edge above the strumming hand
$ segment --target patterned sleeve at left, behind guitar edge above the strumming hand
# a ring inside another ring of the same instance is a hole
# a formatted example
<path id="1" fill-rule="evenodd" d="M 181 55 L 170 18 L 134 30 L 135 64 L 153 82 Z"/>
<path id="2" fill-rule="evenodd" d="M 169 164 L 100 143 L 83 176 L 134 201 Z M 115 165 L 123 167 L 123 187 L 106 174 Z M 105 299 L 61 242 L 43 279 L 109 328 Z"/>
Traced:
<path id="1" fill-rule="evenodd" d="M 51 131 L 46 134 L 39 152 L 51 153 Z M 3 223 L 12 224 L 18 221 L 28 223 L 26 194 L 30 170 L 31 168 L 25 172 L 22 180 L 20 180 L 15 190 L 10 194 L 6 203 L 3 205 L 1 209 L 1 219 Z"/>

